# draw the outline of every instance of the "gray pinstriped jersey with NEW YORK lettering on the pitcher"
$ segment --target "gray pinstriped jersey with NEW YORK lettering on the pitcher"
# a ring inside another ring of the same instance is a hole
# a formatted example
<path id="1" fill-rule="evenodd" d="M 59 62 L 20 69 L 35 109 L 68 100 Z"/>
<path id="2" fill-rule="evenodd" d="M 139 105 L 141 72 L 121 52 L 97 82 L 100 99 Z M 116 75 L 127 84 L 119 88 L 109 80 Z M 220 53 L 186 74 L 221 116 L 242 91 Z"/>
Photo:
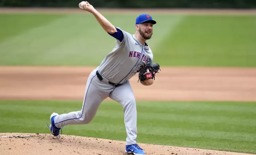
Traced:
<path id="1" fill-rule="evenodd" d="M 116 46 L 99 66 L 99 73 L 112 83 L 126 82 L 146 64 L 153 62 L 153 54 L 147 44 L 142 45 L 134 34 L 120 30 L 124 39 L 122 42 L 116 39 Z"/>

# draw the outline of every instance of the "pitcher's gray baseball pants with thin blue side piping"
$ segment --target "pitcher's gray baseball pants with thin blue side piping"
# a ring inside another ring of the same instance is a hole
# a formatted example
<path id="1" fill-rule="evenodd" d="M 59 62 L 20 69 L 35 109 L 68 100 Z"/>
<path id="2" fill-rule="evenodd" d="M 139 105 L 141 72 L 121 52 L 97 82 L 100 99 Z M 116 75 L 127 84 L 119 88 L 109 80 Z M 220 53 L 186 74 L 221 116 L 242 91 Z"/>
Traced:
<path id="1" fill-rule="evenodd" d="M 129 81 L 115 87 L 107 83 L 107 79 L 104 77 L 100 81 L 96 76 L 97 69 L 91 72 L 87 80 L 82 109 L 77 112 L 57 115 L 54 119 L 55 126 L 61 128 L 66 125 L 88 124 L 95 117 L 101 102 L 110 97 L 123 106 L 127 132 L 126 145 L 136 144 L 137 110 L 134 92 Z"/>

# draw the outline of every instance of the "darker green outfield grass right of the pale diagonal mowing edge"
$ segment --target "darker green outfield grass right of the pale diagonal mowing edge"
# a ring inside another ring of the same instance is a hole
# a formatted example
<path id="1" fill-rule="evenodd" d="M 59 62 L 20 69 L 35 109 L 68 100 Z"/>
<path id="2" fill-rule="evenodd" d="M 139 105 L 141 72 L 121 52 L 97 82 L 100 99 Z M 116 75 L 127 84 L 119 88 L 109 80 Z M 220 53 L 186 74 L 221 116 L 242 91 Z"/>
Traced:
<path id="1" fill-rule="evenodd" d="M 256 15 L 186 16 L 154 59 L 162 66 L 255 67 L 255 27 Z"/>

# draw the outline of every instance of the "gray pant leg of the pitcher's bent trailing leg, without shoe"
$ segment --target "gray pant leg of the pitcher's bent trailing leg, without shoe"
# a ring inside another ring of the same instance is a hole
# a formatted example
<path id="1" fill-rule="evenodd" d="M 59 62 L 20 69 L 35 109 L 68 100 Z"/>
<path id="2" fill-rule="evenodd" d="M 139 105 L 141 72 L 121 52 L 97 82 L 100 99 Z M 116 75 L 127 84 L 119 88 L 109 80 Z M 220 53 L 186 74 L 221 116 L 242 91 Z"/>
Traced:
<path id="1" fill-rule="evenodd" d="M 96 69 L 93 70 L 87 80 L 82 109 L 57 115 L 54 118 L 55 126 L 61 128 L 66 125 L 88 124 L 95 117 L 99 105 L 109 96 L 112 88 L 113 86 L 100 81 L 96 76 Z"/>

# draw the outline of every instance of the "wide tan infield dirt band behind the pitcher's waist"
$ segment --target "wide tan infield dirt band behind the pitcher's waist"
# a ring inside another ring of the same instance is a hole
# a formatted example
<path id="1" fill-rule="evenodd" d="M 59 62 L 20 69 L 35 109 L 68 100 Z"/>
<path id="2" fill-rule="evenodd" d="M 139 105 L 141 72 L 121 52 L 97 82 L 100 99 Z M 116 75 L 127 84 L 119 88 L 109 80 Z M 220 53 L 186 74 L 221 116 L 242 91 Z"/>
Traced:
<path id="1" fill-rule="evenodd" d="M 0 66 L 0 99 L 83 100 L 93 69 Z M 161 67 L 153 85 L 130 83 L 136 100 L 256 101 L 256 68 Z"/>

